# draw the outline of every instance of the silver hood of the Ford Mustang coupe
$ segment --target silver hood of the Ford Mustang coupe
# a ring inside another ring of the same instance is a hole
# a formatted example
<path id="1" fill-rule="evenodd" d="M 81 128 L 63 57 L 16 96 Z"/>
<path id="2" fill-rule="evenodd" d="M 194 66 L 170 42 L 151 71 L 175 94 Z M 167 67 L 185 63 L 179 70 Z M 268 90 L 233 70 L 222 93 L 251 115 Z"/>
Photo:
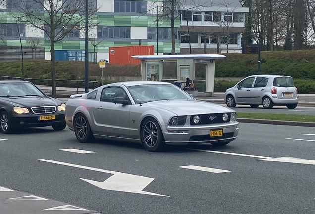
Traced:
<path id="1" fill-rule="evenodd" d="M 206 101 L 195 100 L 163 100 L 145 103 L 143 105 L 169 110 L 177 115 L 211 114 L 235 112 L 232 109 Z"/>

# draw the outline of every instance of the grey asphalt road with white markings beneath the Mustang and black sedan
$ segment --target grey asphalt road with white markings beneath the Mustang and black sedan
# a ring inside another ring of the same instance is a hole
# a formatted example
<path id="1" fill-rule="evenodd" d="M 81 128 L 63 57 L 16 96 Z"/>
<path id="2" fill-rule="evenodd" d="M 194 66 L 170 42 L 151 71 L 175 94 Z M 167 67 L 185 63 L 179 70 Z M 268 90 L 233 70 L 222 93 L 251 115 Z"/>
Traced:
<path id="1" fill-rule="evenodd" d="M 314 128 L 239 127 L 224 147 L 160 153 L 68 129 L 0 134 L 0 214 L 314 214 Z M 49 200 L 21 200 L 35 196 Z M 58 206 L 84 210 L 43 211 Z"/>

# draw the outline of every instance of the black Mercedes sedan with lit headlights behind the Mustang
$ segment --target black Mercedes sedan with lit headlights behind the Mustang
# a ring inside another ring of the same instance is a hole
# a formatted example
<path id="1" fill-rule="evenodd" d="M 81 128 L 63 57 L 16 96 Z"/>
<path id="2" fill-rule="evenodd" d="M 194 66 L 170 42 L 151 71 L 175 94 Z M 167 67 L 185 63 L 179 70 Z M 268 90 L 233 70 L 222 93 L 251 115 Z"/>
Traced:
<path id="1" fill-rule="evenodd" d="M 65 103 L 51 98 L 25 80 L 0 80 L 0 129 L 4 134 L 18 128 L 66 127 Z"/>

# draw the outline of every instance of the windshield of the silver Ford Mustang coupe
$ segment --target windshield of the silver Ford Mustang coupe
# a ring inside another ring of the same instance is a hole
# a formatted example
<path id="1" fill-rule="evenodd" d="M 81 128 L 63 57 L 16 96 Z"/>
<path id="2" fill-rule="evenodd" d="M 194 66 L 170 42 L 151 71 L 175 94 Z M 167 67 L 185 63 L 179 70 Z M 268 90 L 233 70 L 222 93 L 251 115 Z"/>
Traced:
<path id="1" fill-rule="evenodd" d="M 175 85 L 137 85 L 129 86 L 128 90 L 136 104 L 157 100 L 193 99 Z"/>

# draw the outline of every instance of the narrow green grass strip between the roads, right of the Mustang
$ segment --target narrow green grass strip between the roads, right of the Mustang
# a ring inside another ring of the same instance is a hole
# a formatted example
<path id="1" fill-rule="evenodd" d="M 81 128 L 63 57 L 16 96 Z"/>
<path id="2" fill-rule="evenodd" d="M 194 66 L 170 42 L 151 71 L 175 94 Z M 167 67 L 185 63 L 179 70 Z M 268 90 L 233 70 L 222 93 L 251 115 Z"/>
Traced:
<path id="1" fill-rule="evenodd" d="M 236 118 L 315 122 L 315 116 L 304 114 L 236 113 Z"/>

